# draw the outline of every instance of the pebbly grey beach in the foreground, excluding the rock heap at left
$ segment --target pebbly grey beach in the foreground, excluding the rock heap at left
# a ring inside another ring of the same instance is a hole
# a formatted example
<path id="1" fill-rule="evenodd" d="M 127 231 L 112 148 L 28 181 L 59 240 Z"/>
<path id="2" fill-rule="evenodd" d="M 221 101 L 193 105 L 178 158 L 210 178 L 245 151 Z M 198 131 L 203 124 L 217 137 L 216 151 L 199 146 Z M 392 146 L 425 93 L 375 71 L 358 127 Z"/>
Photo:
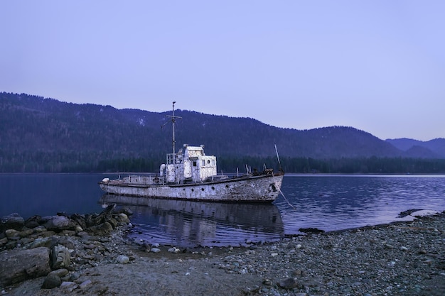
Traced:
<path id="1" fill-rule="evenodd" d="M 70 236 L 75 276 L 60 287 L 36 278 L 2 294 L 445 295 L 445 212 L 236 248 L 144 246 L 124 228 Z"/>

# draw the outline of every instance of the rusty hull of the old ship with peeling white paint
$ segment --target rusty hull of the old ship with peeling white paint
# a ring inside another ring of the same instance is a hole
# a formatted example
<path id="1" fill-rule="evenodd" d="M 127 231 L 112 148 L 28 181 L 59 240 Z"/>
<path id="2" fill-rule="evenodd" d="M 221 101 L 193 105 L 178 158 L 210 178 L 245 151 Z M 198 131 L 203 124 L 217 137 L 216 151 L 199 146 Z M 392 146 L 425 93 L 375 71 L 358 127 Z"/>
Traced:
<path id="1" fill-rule="evenodd" d="M 282 186 L 283 175 L 259 175 L 180 185 L 143 185 L 99 182 L 104 192 L 136 197 L 158 197 L 212 202 L 273 202 Z"/>

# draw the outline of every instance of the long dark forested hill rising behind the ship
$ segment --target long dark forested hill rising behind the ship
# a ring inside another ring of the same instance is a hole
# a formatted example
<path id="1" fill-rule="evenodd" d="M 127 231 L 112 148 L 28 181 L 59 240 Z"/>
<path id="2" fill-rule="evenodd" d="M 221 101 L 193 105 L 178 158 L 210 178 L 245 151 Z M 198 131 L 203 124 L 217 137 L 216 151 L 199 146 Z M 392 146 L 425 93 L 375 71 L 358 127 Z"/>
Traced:
<path id="1" fill-rule="evenodd" d="M 115 163 L 106 168 L 110 161 L 129 159 L 157 168 L 171 152 L 167 115 L 171 111 L 119 110 L 1 92 L 0 172 L 114 170 L 119 169 Z M 204 144 L 208 155 L 227 166 L 243 158 L 272 159 L 274 144 L 283 158 L 445 158 L 445 139 L 405 150 L 352 127 L 301 131 L 181 109 L 175 115 L 182 117 L 176 121 L 177 150 L 183 143 Z"/>

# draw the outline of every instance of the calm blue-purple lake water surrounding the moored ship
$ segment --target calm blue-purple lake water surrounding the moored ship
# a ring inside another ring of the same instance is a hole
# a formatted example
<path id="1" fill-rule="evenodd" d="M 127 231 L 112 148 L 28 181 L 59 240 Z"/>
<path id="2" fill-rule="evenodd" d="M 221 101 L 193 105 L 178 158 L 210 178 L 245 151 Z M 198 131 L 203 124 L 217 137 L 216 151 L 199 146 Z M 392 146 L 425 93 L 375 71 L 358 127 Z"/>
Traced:
<path id="1" fill-rule="evenodd" d="M 273 204 L 139 199 L 103 194 L 103 174 L 0 175 L 0 216 L 101 212 L 117 202 L 132 209 L 129 234 L 149 243 L 239 246 L 301 234 L 398 221 L 409 209 L 445 210 L 445 175 L 286 175 Z M 117 177 L 117 175 L 106 175 Z"/>

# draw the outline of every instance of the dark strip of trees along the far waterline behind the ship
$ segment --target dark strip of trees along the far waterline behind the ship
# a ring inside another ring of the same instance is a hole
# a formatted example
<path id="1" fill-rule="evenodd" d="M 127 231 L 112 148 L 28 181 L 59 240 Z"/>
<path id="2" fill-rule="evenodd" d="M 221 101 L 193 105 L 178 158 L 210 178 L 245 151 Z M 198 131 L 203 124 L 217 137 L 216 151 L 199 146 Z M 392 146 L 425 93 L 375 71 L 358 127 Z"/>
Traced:
<path id="1" fill-rule="evenodd" d="M 110 157 L 108 157 L 110 156 Z M 116 158 L 97 151 L 82 153 L 33 152 L 15 155 L 1 155 L 0 172 L 159 172 L 159 165 L 165 163 L 162 155 L 153 158 L 139 156 Z M 218 172 L 262 170 L 265 167 L 278 169 L 277 158 L 220 156 Z M 445 159 L 424 158 L 341 158 L 318 160 L 314 158 L 282 157 L 281 166 L 285 172 L 294 173 L 377 173 L 377 174 L 443 174 Z"/>

